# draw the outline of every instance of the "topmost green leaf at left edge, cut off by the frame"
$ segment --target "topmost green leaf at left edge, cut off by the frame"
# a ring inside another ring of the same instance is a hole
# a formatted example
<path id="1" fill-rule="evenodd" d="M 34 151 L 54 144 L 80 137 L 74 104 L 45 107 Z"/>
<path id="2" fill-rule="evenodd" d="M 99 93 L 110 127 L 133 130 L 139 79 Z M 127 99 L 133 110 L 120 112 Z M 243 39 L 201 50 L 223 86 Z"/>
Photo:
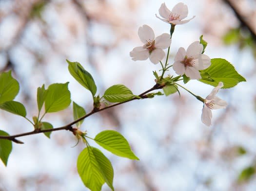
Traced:
<path id="1" fill-rule="evenodd" d="M 13 100 L 19 90 L 19 82 L 12 77 L 11 70 L 0 74 L 0 104 Z"/>

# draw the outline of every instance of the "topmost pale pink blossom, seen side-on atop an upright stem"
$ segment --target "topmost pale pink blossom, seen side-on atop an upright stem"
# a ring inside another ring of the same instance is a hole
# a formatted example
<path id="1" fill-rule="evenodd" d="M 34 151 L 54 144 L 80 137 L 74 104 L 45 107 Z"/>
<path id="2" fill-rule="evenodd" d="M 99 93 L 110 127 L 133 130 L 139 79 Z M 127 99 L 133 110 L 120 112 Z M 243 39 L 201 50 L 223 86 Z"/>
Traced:
<path id="1" fill-rule="evenodd" d="M 158 11 L 159 11 L 159 15 L 163 18 L 158 17 L 157 14 L 156 14 L 156 17 L 158 17 L 160 20 L 164 22 L 167 22 L 173 25 L 187 23 L 191 19 L 196 17 L 194 16 L 188 20 L 182 20 L 188 17 L 188 6 L 182 2 L 179 2 L 177 5 L 175 5 L 172 11 L 170 11 L 166 7 L 165 3 L 162 3 Z"/>

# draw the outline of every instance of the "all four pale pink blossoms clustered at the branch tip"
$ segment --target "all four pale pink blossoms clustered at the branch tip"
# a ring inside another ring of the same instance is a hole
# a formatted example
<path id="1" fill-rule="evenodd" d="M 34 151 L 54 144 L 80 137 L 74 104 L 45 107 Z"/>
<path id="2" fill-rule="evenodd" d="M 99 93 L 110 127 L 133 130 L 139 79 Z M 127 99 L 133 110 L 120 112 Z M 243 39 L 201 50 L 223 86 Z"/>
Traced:
<path id="1" fill-rule="evenodd" d="M 151 27 L 148 25 L 139 27 L 138 36 L 144 45 L 136 47 L 130 52 L 130 56 L 134 61 L 147 60 L 149 58 L 153 64 L 161 62 L 165 56 L 163 49 L 167 49 L 171 45 L 172 30 L 174 30 L 175 26 L 187 23 L 195 17 L 183 20 L 188 16 L 188 7 L 181 2 L 175 5 L 172 11 L 166 7 L 165 3 L 162 3 L 158 11 L 162 18 L 157 15 L 156 17 L 171 24 L 171 34 L 164 33 L 155 38 L 154 31 Z M 186 75 L 190 79 L 198 80 L 201 79 L 199 70 L 207 69 L 210 65 L 211 59 L 209 56 L 203 54 L 203 45 L 199 41 L 196 41 L 187 50 L 183 47 L 178 49 L 174 59 L 173 69 L 180 76 Z M 225 101 L 216 96 L 221 87 L 223 87 L 223 83 L 219 82 L 217 87 L 203 100 L 201 120 L 208 126 L 212 123 L 212 109 L 225 108 L 227 106 Z"/>

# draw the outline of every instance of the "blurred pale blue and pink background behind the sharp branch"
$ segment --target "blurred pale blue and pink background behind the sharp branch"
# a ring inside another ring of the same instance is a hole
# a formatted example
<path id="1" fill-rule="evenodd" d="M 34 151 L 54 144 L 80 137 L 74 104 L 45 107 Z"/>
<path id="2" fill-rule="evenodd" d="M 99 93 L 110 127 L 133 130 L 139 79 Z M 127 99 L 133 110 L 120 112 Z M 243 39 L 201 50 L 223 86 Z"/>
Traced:
<path id="1" fill-rule="evenodd" d="M 172 9 L 180 0 L 166 0 Z M 122 104 L 87 118 L 81 129 L 95 137 L 113 129 L 129 141 L 139 161 L 103 153 L 114 168 L 116 191 L 255 191 L 256 190 L 256 1 L 183 0 L 189 23 L 178 25 L 170 63 L 200 35 L 205 54 L 224 58 L 247 79 L 218 96 L 226 109 L 213 111 L 213 125 L 201 120 L 202 103 L 180 89 L 172 94 Z M 0 71 L 12 70 L 20 82 L 15 100 L 37 115 L 36 90 L 45 84 L 69 83 L 72 100 L 87 112 L 90 92 L 73 79 L 65 59 L 89 71 L 99 94 L 124 84 L 134 94 L 151 88 L 149 60 L 134 62 L 129 52 L 141 46 L 138 27 L 147 24 L 155 35 L 169 25 L 155 17 L 160 0 L 0 0 Z M 173 70 L 168 72 L 175 74 Z M 213 87 L 198 81 L 185 85 L 205 98 Z M 47 114 L 54 127 L 72 122 L 72 107 Z M 0 129 L 9 134 L 33 130 L 19 116 L 0 111 Z M 87 191 L 76 169 L 85 147 L 68 131 L 20 138 L 13 143 L 7 167 L 0 162 L 0 191 Z M 98 147 L 93 142 L 92 146 Z M 102 149 L 103 150 L 103 149 Z M 110 191 L 103 185 L 102 191 Z"/>

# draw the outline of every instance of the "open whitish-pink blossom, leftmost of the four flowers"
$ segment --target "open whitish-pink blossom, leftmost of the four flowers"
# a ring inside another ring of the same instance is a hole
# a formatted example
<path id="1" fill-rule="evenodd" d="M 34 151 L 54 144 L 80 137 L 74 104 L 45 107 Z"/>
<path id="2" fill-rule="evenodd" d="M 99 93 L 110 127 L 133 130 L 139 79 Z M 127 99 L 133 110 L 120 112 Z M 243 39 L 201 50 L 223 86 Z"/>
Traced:
<path id="1" fill-rule="evenodd" d="M 138 36 L 144 45 L 142 47 L 135 47 L 130 52 L 130 56 L 134 61 L 146 60 L 149 57 L 152 63 L 157 64 L 164 58 L 165 53 L 162 49 L 168 48 L 172 42 L 171 36 L 167 33 L 155 39 L 154 31 L 148 25 L 139 27 Z"/>

